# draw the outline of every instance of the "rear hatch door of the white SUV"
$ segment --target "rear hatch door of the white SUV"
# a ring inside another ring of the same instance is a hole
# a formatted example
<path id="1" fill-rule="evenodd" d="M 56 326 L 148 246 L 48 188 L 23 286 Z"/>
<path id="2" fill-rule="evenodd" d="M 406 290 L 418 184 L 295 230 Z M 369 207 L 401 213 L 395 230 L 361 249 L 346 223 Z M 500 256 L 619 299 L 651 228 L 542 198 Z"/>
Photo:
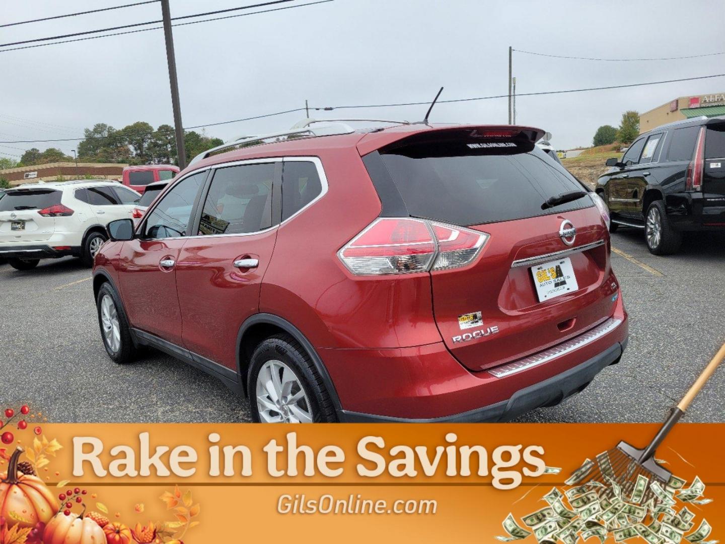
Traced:
<path id="1" fill-rule="evenodd" d="M 38 213 L 60 204 L 62 192 L 51 188 L 11 189 L 0 199 L 0 244 L 43 242 L 55 232 L 55 219 Z"/>

